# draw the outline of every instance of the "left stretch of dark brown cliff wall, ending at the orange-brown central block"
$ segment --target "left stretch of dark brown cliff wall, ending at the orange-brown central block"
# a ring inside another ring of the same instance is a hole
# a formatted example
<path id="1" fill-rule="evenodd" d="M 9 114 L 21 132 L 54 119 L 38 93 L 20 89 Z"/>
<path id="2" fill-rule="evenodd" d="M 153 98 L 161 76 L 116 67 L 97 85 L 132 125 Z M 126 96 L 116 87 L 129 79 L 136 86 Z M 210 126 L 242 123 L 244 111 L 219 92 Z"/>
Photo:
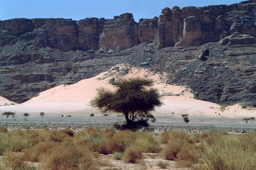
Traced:
<path id="1" fill-rule="evenodd" d="M 38 48 L 97 50 L 105 19 L 10 19 L 0 21 L 0 46 L 25 40 Z"/>

